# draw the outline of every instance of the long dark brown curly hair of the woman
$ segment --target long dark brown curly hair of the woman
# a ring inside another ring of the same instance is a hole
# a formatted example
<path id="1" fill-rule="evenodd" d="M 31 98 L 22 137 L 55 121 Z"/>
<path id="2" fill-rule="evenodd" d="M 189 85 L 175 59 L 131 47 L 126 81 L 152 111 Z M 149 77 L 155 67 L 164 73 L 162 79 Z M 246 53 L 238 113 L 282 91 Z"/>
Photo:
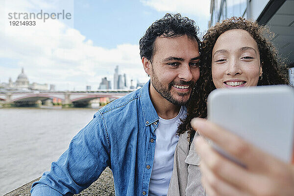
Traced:
<path id="1" fill-rule="evenodd" d="M 267 26 L 259 26 L 256 22 L 248 21 L 241 17 L 232 17 L 221 23 L 217 23 L 209 28 L 202 38 L 200 48 L 200 78 L 187 103 L 187 118 L 179 125 L 177 130 L 178 135 L 188 130 L 189 136 L 194 136 L 195 131 L 191 127 L 191 120 L 195 117 L 207 117 L 207 97 L 216 89 L 211 73 L 212 49 L 219 36 L 223 32 L 231 29 L 246 30 L 257 43 L 263 71 L 262 78 L 258 81 L 258 86 L 289 84 L 286 63 L 277 56 L 277 51 L 270 43 L 273 34 L 270 33 Z"/>

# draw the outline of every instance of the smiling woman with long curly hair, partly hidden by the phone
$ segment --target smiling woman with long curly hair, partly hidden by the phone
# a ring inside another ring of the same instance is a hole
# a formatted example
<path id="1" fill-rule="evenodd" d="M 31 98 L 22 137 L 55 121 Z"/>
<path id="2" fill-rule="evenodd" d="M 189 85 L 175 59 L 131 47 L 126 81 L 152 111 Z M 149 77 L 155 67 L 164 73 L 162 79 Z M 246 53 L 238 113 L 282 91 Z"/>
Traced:
<path id="1" fill-rule="evenodd" d="M 168 195 L 204 196 L 200 156 L 192 142 L 199 135 L 191 127 L 195 117 L 206 118 L 206 100 L 216 88 L 289 84 L 286 65 L 277 58 L 266 37 L 266 27 L 242 18 L 230 18 L 211 27 L 201 43 L 201 76 L 187 105 L 187 119 L 179 126 Z M 208 140 L 207 140 L 208 141 Z M 209 141 L 208 141 L 209 142 Z"/>

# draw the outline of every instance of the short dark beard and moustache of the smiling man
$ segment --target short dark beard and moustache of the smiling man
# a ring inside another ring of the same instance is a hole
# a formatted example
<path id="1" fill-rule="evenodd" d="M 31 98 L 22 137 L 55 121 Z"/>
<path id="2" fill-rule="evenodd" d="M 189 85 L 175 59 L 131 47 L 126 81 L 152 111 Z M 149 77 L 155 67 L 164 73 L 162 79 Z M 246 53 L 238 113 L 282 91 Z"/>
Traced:
<path id="1" fill-rule="evenodd" d="M 164 85 L 162 85 L 159 82 L 159 79 L 158 79 L 158 77 L 156 76 L 156 74 L 154 72 L 153 72 L 153 74 L 151 76 L 151 84 L 154 87 L 154 89 L 163 98 L 167 99 L 168 101 L 170 101 L 174 105 L 186 105 L 186 103 L 189 101 L 190 97 L 187 100 L 177 100 L 177 99 L 173 98 L 172 94 L 171 94 L 171 89 L 172 89 L 173 85 L 189 85 L 190 86 L 189 88 L 191 88 L 191 89 L 193 89 L 194 86 L 195 86 L 195 82 L 193 82 L 193 81 L 186 82 L 186 81 L 180 80 L 179 83 L 175 83 L 174 81 L 172 81 L 171 83 L 169 83 L 168 89 L 166 89 L 164 87 Z M 182 98 L 186 97 L 189 94 L 191 95 L 192 92 L 189 91 L 189 92 L 186 92 L 186 93 L 177 93 L 177 95 L 182 97 Z"/>

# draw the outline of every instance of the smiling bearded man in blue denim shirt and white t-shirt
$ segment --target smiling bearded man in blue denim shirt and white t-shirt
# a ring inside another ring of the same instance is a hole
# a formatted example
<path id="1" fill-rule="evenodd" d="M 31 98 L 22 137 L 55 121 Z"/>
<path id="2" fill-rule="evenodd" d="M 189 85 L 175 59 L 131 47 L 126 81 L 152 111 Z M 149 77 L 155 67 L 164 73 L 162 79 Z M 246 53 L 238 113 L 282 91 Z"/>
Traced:
<path id="1" fill-rule="evenodd" d="M 188 18 L 167 14 L 153 23 L 140 40 L 150 81 L 101 108 L 32 185 L 32 196 L 77 194 L 106 167 L 118 196 L 166 195 L 177 125 L 200 74 L 198 43 Z"/>

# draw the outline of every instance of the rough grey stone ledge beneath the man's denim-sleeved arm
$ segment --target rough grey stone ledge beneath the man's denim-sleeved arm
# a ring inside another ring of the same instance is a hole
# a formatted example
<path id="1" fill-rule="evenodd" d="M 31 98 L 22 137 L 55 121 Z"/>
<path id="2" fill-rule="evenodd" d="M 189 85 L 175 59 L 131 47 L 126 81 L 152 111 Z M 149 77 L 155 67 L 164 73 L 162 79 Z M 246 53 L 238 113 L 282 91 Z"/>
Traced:
<path id="1" fill-rule="evenodd" d="M 4 196 L 30 196 L 31 194 L 29 191 L 33 182 L 39 179 L 40 178 L 37 178 L 15 189 L 14 191 L 5 194 Z M 95 181 L 89 188 L 74 196 L 115 196 L 111 170 L 106 168 L 106 170 L 101 173 L 97 181 Z"/>

